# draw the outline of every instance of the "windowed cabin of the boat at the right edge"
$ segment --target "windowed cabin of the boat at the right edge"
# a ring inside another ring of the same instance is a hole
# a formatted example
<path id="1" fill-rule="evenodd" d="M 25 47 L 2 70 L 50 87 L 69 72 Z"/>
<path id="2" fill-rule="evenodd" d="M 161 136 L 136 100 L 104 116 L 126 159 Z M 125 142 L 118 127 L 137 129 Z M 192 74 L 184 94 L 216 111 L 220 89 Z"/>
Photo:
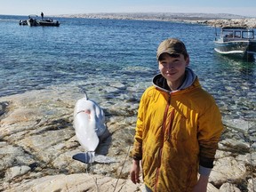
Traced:
<path id="1" fill-rule="evenodd" d="M 244 27 L 224 27 L 221 28 L 221 35 L 223 41 L 236 41 L 254 39 L 254 30 Z"/>

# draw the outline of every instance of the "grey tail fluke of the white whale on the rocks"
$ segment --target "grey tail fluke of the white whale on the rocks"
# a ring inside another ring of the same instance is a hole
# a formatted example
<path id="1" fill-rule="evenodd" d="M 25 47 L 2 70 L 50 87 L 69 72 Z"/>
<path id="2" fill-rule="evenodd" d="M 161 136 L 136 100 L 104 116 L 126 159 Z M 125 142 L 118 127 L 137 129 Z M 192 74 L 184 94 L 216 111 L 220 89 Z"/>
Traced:
<path id="1" fill-rule="evenodd" d="M 111 163 L 118 162 L 114 157 L 97 155 L 95 154 L 95 152 L 92 152 L 92 151 L 88 151 L 85 153 L 78 153 L 72 156 L 72 158 L 84 164 L 92 164 L 94 162 L 98 164 L 111 164 Z"/>

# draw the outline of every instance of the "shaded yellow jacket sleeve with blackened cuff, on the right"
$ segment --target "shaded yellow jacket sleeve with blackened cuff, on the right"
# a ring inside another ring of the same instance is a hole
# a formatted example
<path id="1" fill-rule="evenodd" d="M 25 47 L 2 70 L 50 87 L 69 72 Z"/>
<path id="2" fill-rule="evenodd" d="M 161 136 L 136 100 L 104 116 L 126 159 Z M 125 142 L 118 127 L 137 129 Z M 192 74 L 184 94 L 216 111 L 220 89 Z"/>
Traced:
<path id="1" fill-rule="evenodd" d="M 223 130 L 220 110 L 212 103 L 198 120 L 199 164 L 206 168 L 213 167 L 214 156 Z"/>

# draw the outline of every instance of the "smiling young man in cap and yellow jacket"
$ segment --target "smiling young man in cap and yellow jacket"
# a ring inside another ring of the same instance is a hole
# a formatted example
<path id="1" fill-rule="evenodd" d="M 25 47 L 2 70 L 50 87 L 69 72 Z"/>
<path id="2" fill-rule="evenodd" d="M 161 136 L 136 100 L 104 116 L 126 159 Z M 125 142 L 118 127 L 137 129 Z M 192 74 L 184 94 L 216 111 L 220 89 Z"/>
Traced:
<path id="1" fill-rule="evenodd" d="M 140 100 L 131 180 L 140 182 L 141 161 L 146 191 L 206 192 L 223 130 L 220 110 L 188 68 L 183 42 L 164 40 L 156 59 L 160 74 Z"/>

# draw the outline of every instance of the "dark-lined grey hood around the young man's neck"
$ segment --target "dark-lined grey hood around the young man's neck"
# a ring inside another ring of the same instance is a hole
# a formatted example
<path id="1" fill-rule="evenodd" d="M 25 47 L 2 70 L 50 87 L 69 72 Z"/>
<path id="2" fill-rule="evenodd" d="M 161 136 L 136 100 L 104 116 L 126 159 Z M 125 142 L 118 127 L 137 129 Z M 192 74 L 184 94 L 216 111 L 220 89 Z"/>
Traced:
<path id="1" fill-rule="evenodd" d="M 179 90 L 184 90 L 186 88 L 188 88 L 191 84 L 193 84 L 196 80 L 196 74 L 194 73 L 194 71 L 191 68 L 186 68 L 185 69 L 185 80 L 183 81 L 183 83 L 180 85 L 180 87 L 178 88 L 178 90 L 173 91 L 173 92 L 177 92 Z M 163 90 L 164 92 L 172 92 L 170 87 L 167 84 L 166 79 L 164 78 L 164 76 L 162 76 L 161 74 L 158 74 L 156 76 L 153 77 L 153 84 L 158 88 Z"/>

